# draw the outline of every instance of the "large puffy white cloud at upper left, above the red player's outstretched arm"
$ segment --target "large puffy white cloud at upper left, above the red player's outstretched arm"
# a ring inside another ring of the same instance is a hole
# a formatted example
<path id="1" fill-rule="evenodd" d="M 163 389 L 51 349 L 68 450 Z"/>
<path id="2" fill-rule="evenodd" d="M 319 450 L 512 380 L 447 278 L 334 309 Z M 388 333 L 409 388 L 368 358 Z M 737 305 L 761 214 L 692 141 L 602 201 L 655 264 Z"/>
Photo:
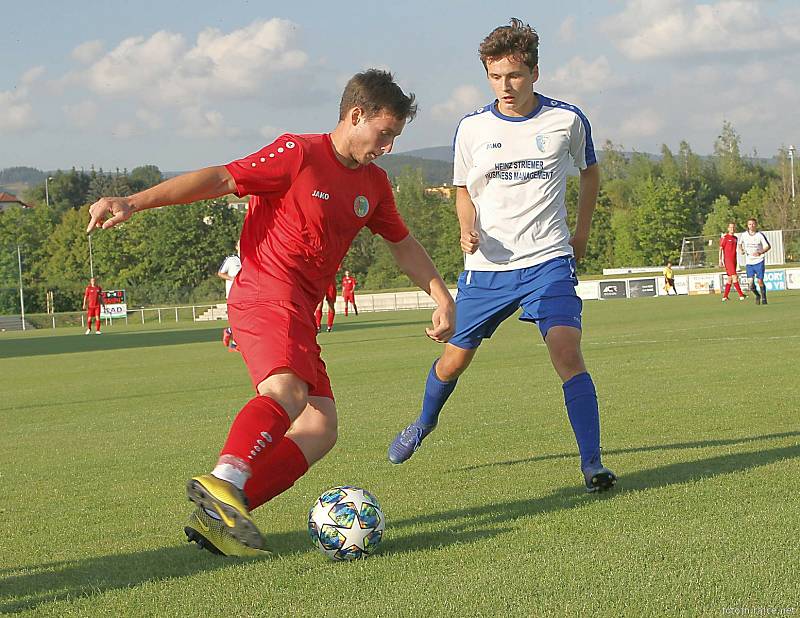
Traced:
<path id="1" fill-rule="evenodd" d="M 86 79 L 98 94 L 172 106 L 192 104 L 198 96 L 252 94 L 268 75 L 306 64 L 294 35 L 291 22 L 275 18 L 228 34 L 207 28 L 191 46 L 167 31 L 131 37 L 92 64 Z"/>

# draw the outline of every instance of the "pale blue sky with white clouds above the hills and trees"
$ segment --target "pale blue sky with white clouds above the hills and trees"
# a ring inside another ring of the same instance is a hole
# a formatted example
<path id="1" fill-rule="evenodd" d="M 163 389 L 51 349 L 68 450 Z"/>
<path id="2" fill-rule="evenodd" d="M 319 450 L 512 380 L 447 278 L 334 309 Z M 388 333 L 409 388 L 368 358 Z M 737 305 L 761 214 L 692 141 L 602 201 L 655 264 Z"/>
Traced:
<path id="1" fill-rule="evenodd" d="M 395 152 L 446 145 L 491 100 L 476 50 L 511 16 L 540 34 L 537 91 L 579 105 L 597 144 L 708 153 L 723 120 L 746 153 L 800 142 L 791 0 L 278 4 L 0 0 L 0 168 L 227 162 L 331 130 L 369 67 L 420 104 Z"/>

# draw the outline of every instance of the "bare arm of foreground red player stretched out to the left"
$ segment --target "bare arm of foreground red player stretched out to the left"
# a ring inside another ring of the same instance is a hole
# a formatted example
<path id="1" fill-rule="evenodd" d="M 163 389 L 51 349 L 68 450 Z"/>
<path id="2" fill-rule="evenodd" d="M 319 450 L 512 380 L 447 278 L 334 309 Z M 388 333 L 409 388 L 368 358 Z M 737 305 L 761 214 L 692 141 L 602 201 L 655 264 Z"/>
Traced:
<path id="1" fill-rule="evenodd" d="M 102 197 L 89 207 L 86 233 L 107 229 L 131 218 L 133 213 L 169 204 L 189 204 L 236 191 L 236 182 L 221 165 L 181 174 L 128 197 Z"/>

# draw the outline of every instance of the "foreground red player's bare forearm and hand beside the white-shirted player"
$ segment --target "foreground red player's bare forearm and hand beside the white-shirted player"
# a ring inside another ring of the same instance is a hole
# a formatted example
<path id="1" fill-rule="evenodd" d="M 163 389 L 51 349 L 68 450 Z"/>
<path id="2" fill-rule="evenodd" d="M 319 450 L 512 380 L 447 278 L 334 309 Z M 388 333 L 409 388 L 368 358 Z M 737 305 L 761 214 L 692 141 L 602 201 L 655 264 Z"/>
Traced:
<path id="1" fill-rule="evenodd" d="M 437 343 L 445 343 L 456 327 L 456 305 L 442 276 L 431 262 L 428 253 L 411 234 L 400 242 L 387 242 L 394 261 L 400 269 L 436 303 L 431 328 L 425 333 Z"/>

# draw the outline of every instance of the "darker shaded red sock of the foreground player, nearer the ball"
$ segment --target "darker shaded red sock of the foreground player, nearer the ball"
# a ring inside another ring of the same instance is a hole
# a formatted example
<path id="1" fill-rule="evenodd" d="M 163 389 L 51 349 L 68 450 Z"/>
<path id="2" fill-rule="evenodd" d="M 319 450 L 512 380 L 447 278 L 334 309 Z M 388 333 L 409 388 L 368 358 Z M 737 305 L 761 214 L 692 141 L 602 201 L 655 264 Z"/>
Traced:
<path id="1" fill-rule="evenodd" d="M 308 462 L 303 451 L 293 440 L 284 436 L 270 453 L 253 461 L 253 476 L 244 486 L 250 510 L 282 494 L 307 471 Z"/>

